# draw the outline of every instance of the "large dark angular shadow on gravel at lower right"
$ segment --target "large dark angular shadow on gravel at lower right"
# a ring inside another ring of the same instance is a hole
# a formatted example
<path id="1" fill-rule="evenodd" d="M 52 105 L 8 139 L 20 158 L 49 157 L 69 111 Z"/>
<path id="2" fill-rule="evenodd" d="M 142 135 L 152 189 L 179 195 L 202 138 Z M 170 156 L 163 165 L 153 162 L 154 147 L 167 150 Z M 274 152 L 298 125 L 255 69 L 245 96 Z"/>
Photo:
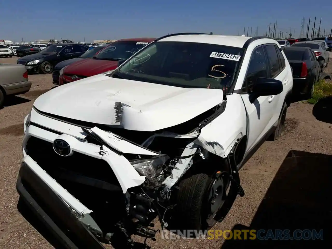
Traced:
<path id="1" fill-rule="evenodd" d="M 241 240 L 239 237 L 229 237 L 221 249 L 247 249 L 249 246 L 294 248 L 303 245 L 323 248 L 322 243 L 331 240 L 331 175 L 332 156 L 291 150 L 270 185 L 250 227 L 237 224 L 232 229 L 233 235 L 234 230 L 248 230 L 247 239 L 244 239 L 244 231 L 241 231 Z M 248 239 L 251 237 L 250 229 L 256 230 L 257 237 L 254 240 Z M 260 229 L 263 230 L 259 231 Z M 285 229 L 289 229 L 289 239 Z M 303 232 L 305 229 L 307 230 Z M 316 231 L 313 231 L 314 229 Z M 281 234 L 280 237 L 286 238 L 278 239 L 278 232 Z M 315 233 L 316 240 L 313 240 L 312 236 Z M 320 235 L 323 236 L 323 240 Z M 302 239 L 296 240 L 299 237 Z"/>

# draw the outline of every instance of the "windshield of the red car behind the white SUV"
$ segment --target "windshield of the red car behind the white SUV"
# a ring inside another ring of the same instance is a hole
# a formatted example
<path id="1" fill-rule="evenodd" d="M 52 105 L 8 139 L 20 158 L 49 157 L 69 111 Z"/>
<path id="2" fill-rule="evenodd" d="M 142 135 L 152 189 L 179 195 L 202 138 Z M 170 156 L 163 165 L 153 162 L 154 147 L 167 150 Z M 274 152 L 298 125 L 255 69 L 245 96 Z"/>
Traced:
<path id="1" fill-rule="evenodd" d="M 137 41 L 118 41 L 113 42 L 103 51 L 98 53 L 94 58 L 100 60 L 126 60 L 139 49 L 146 46 L 148 42 Z"/>

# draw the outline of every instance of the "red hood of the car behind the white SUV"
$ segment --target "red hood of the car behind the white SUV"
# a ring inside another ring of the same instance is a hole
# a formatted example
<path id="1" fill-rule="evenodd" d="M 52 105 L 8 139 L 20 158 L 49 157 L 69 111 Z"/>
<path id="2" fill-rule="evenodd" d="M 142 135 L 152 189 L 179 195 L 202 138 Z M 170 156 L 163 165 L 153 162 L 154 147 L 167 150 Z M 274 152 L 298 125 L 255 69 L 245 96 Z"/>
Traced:
<path id="1" fill-rule="evenodd" d="M 65 68 L 63 73 L 90 77 L 96 74 L 114 70 L 118 67 L 118 65 L 119 65 L 118 61 L 97 60 L 89 58 L 71 64 L 70 66 Z"/>

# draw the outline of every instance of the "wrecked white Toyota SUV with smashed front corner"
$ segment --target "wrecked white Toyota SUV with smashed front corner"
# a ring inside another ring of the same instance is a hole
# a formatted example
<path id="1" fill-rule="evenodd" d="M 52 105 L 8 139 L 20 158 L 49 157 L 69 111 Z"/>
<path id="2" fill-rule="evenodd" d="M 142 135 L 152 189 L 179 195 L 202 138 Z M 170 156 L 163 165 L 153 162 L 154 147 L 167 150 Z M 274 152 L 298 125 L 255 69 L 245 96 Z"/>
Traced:
<path id="1" fill-rule="evenodd" d="M 238 170 L 282 134 L 291 91 L 273 39 L 159 38 L 115 71 L 37 98 L 24 121 L 18 207 L 66 248 L 152 238 L 156 217 L 206 231 L 244 195 Z"/>

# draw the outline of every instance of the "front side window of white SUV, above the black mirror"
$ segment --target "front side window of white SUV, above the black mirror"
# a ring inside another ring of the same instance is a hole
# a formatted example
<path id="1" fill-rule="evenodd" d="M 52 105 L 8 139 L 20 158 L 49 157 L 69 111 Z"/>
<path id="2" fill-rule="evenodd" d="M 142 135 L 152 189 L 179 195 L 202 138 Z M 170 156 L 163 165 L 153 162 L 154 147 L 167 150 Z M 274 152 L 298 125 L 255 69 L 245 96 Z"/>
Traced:
<path id="1" fill-rule="evenodd" d="M 268 77 L 266 55 L 263 46 L 254 49 L 251 54 L 246 78 L 243 87 L 246 92 L 251 92 L 257 78 Z"/>

